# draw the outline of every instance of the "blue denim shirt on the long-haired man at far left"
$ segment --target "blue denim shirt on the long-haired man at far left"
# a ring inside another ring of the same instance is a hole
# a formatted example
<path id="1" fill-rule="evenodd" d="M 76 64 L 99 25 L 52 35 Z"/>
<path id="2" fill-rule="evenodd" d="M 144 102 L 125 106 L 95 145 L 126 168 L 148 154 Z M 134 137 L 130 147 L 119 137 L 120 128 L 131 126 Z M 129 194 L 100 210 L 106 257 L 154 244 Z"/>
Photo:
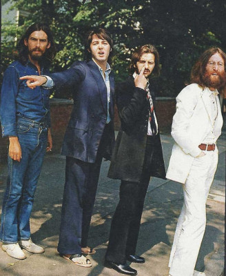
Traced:
<path id="1" fill-rule="evenodd" d="M 48 74 L 48 68 L 41 66 L 41 74 Z M 50 128 L 50 90 L 41 86 L 28 88 L 25 75 L 39 75 L 37 67 L 30 61 L 25 65 L 14 61 L 3 75 L 1 88 L 0 117 L 2 137 L 17 136 L 17 118 L 45 122 Z"/>

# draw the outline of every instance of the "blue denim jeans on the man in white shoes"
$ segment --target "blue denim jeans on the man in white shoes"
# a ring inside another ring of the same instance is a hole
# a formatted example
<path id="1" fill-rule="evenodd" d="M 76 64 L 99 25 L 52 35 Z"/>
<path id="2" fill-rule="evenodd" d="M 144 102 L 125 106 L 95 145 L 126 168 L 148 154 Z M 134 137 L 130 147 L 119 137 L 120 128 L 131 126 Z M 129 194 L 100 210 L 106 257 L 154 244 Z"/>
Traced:
<path id="1" fill-rule="evenodd" d="M 30 214 L 45 156 L 48 128 L 19 118 L 17 134 L 22 159 L 18 162 L 8 157 L 8 179 L 1 213 L 0 239 L 6 244 L 30 238 Z"/>

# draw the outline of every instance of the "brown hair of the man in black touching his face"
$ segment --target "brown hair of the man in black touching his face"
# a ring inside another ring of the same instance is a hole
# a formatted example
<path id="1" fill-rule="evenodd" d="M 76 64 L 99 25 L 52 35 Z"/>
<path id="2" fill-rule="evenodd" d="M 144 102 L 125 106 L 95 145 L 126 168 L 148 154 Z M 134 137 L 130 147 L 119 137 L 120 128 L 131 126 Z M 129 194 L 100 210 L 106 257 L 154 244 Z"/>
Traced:
<path id="1" fill-rule="evenodd" d="M 140 46 L 136 50 L 134 50 L 131 57 L 131 62 L 130 62 L 130 72 L 132 74 L 134 73 L 134 70 L 135 70 L 134 68 L 136 68 L 136 62 L 141 59 L 141 56 L 143 54 L 148 54 L 148 53 L 151 53 L 154 55 L 155 66 L 152 72 L 152 77 L 158 77 L 160 75 L 159 54 L 157 49 L 151 44 Z"/>

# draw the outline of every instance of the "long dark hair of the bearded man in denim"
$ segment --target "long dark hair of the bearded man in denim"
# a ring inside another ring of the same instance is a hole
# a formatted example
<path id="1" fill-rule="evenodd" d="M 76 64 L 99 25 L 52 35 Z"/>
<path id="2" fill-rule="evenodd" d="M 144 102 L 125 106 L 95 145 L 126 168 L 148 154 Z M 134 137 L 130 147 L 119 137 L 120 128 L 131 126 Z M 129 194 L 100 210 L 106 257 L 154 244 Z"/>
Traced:
<path id="1" fill-rule="evenodd" d="M 28 47 L 25 46 L 24 39 L 28 40 L 30 37 L 30 34 L 32 34 L 32 32 L 35 32 L 37 30 L 43 30 L 43 32 L 47 34 L 48 42 L 50 42 L 50 48 L 45 50 L 45 53 L 43 55 L 43 61 L 50 63 L 56 55 L 55 43 L 53 41 L 52 32 L 49 26 L 46 25 L 45 23 L 34 23 L 28 27 L 28 30 L 26 30 L 25 34 L 23 34 L 23 37 L 21 37 L 21 40 L 17 45 L 17 49 L 19 51 L 18 60 L 22 64 L 25 64 L 28 61 Z"/>

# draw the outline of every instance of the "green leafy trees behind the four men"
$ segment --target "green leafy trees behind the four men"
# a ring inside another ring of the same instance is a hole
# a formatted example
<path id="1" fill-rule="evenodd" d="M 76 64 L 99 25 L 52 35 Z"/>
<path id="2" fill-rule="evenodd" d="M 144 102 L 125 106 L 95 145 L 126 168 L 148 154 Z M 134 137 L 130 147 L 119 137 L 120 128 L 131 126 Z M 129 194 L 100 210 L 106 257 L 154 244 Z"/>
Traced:
<path id="1" fill-rule="evenodd" d="M 7 0 L 2 3 L 8 2 Z M 1 26 L 1 70 L 14 59 L 15 42 L 34 22 L 48 23 L 58 53 L 52 71 L 83 59 L 83 37 L 92 26 L 107 28 L 114 39 L 116 81 L 127 77 L 132 50 L 152 43 L 161 57 L 161 77 L 152 82 L 158 96 L 174 97 L 189 82 L 198 55 L 210 46 L 226 50 L 225 0 L 17 0 L 12 9 L 29 13 L 19 27 Z M 70 97 L 59 92 L 54 97 Z"/>

